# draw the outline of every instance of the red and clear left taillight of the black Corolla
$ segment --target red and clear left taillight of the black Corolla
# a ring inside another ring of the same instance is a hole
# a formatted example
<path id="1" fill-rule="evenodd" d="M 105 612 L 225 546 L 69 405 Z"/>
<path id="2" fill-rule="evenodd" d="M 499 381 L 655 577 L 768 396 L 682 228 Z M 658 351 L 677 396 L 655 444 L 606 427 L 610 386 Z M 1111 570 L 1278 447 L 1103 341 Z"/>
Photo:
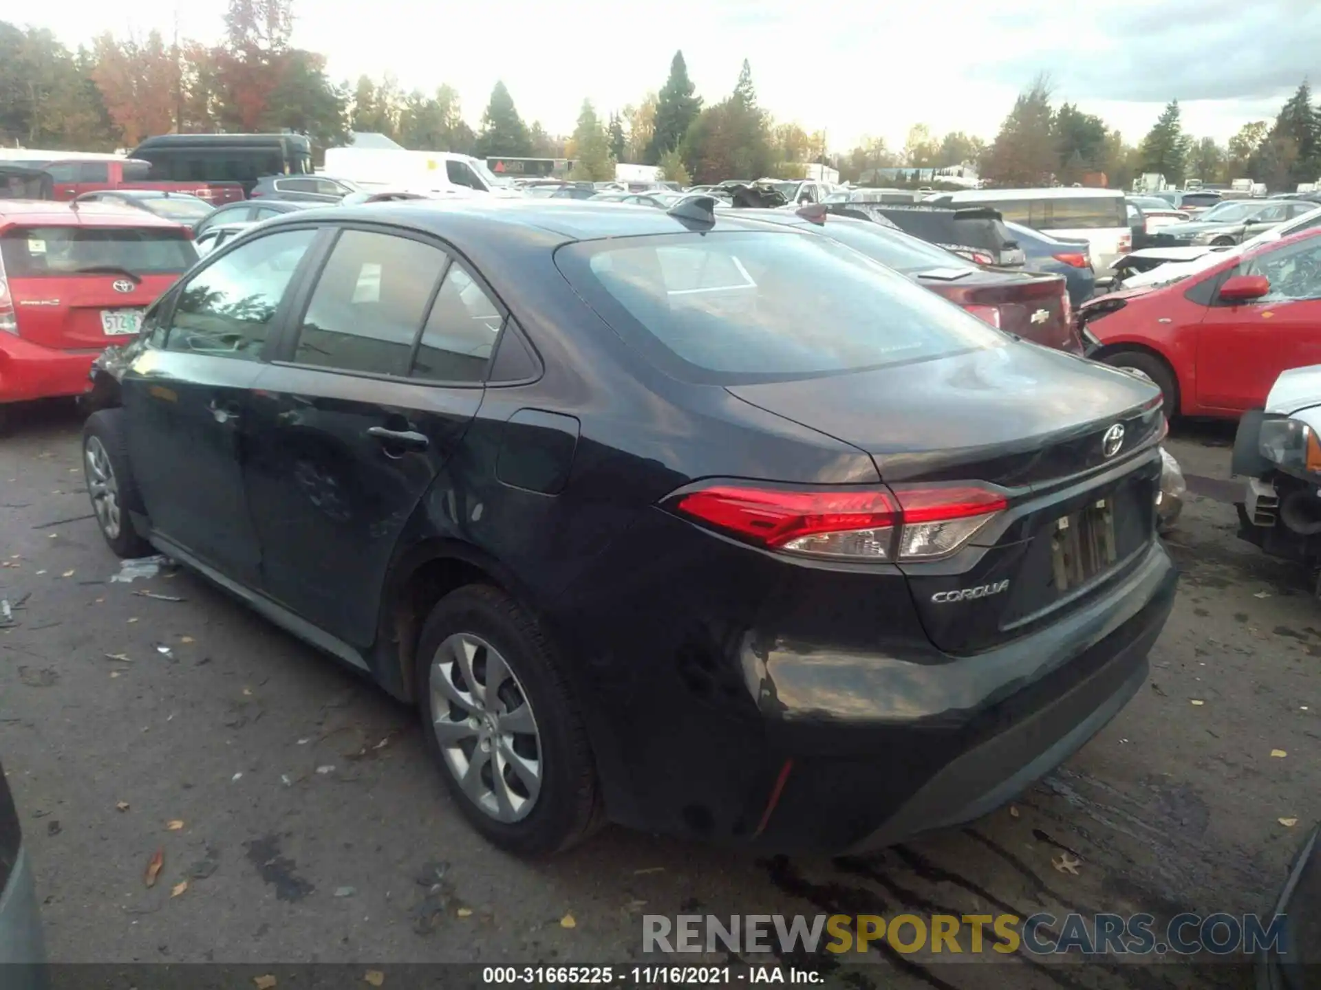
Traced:
<path id="1" fill-rule="evenodd" d="M 893 491 L 789 491 L 717 484 L 671 508 L 768 550 L 832 560 L 905 562 L 947 557 L 1005 508 L 975 484 Z"/>

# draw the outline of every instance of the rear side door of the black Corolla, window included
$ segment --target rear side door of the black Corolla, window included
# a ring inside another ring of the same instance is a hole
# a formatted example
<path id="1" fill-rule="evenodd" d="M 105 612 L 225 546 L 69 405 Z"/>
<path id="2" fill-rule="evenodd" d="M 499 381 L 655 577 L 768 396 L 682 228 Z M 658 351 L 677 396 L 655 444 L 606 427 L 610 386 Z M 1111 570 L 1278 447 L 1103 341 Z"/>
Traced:
<path id="1" fill-rule="evenodd" d="M 339 234 L 301 296 L 252 401 L 248 500 L 268 594 L 362 648 L 420 500 L 462 512 L 458 451 L 503 313 L 437 244 L 367 228 Z"/>

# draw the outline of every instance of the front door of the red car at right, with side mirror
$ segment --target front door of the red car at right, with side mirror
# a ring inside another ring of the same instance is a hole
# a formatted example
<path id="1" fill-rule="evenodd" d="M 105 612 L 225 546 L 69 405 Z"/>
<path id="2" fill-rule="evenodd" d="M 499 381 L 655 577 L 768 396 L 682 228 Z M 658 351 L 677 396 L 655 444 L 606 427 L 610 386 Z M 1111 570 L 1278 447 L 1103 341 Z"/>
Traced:
<path id="1" fill-rule="evenodd" d="M 1197 400 L 1207 411 L 1258 408 L 1281 371 L 1321 364 L 1321 236 L 1266 248 L 1230 275 L 1266 276 L 1271 290 L 1207 308 L 1197 334 Z"/>

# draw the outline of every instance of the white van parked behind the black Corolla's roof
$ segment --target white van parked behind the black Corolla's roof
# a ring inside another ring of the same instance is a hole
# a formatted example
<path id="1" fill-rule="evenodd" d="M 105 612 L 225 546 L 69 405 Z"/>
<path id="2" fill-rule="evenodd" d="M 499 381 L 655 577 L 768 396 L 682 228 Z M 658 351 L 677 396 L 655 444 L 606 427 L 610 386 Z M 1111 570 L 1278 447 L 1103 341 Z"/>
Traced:
<path id="1" fill-rule="evenodd" d="M 326 148 L 325 173 L 363 189 L 406 189 L 440 195 L 513 194 L 486 162 L 450 152 L 395 148 Z"/>

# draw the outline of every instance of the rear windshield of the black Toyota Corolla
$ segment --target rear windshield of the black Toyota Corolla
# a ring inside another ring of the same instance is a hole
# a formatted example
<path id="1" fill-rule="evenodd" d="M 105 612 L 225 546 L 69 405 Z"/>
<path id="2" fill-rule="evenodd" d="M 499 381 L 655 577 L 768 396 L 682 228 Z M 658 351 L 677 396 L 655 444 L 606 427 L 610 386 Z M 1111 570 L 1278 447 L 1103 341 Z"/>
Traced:
<path id="1" fill-rule="evenodd" d="M 625 341 L 690 381 L 863 371 L 1007 339 L 935 293 L 815 234 L 580 242 L 555 259 Z"/>

